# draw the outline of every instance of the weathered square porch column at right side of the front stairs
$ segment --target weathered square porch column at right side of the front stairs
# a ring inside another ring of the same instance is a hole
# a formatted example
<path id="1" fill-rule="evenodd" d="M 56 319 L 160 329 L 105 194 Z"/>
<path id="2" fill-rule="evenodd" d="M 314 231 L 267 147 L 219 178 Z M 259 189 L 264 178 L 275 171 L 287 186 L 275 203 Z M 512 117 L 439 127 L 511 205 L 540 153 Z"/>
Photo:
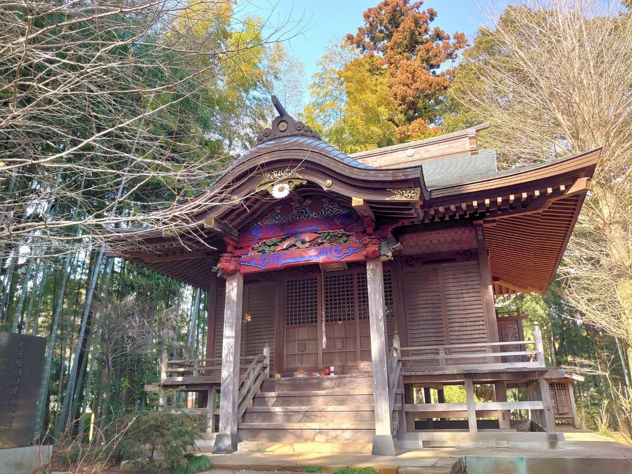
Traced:
<path id="1" fill-rule="evenodd" d="M 367 289 L 375 403 L 375 435 L 372 454 L 395 456 L 398 446 L 397 439 L 392 434 L 392 413 L 389 406 L 384 274 L 382 273 L 382 260 L 379 257 L 367 260 Z"/>

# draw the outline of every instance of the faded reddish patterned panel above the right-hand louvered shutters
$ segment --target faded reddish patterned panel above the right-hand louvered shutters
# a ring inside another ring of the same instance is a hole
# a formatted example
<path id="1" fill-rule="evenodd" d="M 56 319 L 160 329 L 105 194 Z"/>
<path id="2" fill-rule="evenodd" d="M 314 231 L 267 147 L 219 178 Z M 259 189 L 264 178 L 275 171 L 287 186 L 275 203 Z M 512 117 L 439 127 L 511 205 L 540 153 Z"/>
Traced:
<path id="1" fill-rule="evenodd" d="M 459 227 L 439 231 L 403 234 L 399 236 L 399 242 L 403 246 L 401 255 L 449 252 L 450 250 L 476 248 L 476 238 L 473 227 Z"/>

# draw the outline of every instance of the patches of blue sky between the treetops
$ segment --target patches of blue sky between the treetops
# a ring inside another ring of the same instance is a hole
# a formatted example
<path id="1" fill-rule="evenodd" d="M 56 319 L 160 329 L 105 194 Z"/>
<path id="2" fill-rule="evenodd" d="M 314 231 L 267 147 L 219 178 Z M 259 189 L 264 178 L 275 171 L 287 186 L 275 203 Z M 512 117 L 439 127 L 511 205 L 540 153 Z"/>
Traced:
<path id="1" fill-rule="evenodd" d="M 303 18 L 307 30 L 291 39 L 289 46 L 292 53 L 305 64 L 305 75 L 310 78 L 317 70 L 317 61 L 324 53 L 324 48 L 334 38 L 346 33 L 355 33 L 364 21 L 362 13 L 380 0 L 251 0 L 260 8 L 260 15 L 268 15 L 274 6 L 273 18 L 289 18 L 296 21 Z M 506 4 L 501 0 L 492 0 L 497 9 Z M 486 9 L 489 0 L 481 0 Z M 422 8 L 432 7 L 437 11 L 434 25 L 448 33 L 464 32 L 470 39 L 477 26 L 485 22 L 481 8 L 474 0 L 426 0 Z"/>

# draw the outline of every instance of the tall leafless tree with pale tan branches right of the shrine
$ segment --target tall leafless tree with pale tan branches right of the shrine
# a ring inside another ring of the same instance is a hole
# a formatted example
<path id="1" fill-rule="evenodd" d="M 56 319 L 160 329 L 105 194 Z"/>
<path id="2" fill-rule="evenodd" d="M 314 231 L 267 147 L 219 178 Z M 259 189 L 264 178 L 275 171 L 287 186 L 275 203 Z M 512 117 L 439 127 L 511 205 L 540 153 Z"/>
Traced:
<path id="1" fill-rule="evenodd" d="M 626 2 L 527 0 L 490 22 L 453 94 L 492 123 L 505 166 L 604 147 L 562 273 L 583 319 L 632 356 L 632 15 Z"/>

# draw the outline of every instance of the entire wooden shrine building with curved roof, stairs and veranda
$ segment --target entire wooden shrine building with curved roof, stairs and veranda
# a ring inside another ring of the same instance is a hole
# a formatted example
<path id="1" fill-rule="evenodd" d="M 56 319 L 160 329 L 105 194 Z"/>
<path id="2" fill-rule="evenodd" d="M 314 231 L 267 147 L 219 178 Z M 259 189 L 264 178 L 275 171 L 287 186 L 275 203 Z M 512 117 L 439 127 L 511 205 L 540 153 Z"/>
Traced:
<path id="1" fill-rule="evenodd" d="M 498 171 L 479 126 L 349 156 L 275 105 L 185 217 L 109 253 L 210 292 L 206 358 L 159 385 L 202 394 L 214 452 L 556 447 L 569 379 L 494 301 L 548 291 L 600 150 Z"/>

